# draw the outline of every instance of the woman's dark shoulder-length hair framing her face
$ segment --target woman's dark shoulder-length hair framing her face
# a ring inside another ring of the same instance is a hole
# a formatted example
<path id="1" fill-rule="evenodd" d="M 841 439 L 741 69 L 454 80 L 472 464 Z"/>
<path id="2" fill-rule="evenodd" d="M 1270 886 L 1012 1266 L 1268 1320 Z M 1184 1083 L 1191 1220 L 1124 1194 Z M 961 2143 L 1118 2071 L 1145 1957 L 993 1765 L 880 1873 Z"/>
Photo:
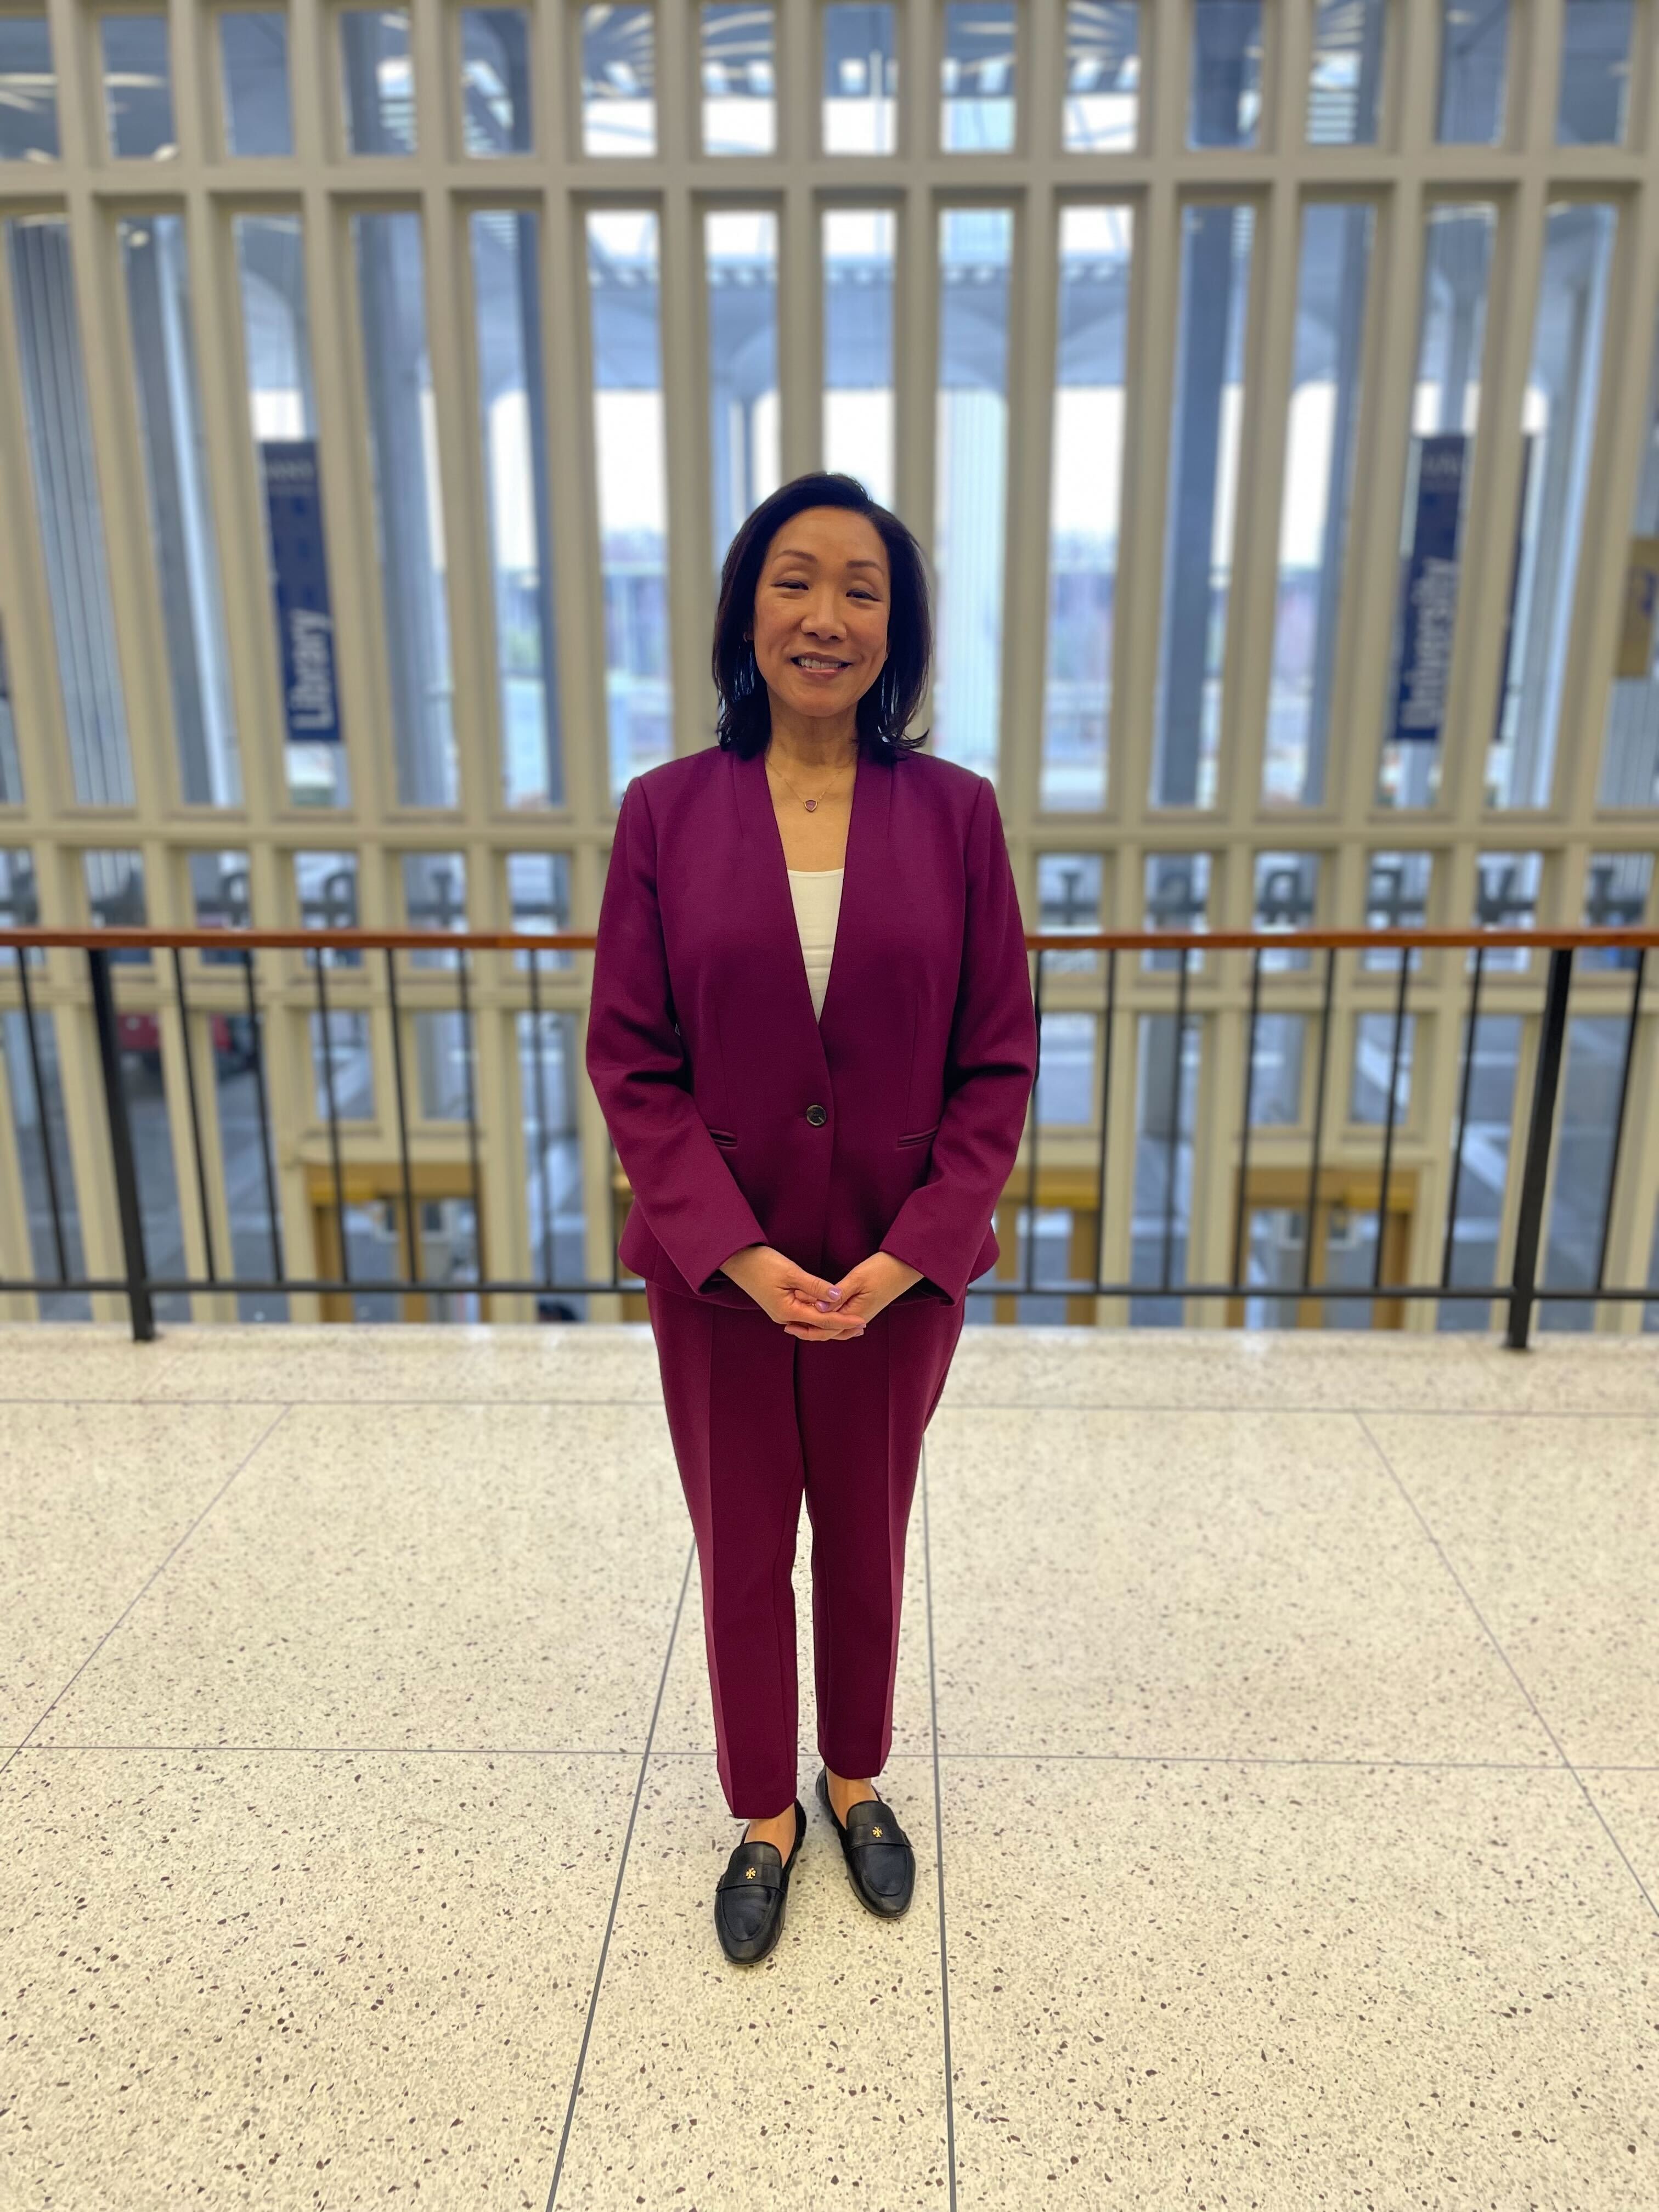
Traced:
<path id="1" fill-rule="evenodd" d="M 905 728 L 927 692 L 933 659 L 933 608 L 927 586 L 927 555 L 889 509 L 869 498 L 856 476 L 814 471 L 796 476 L 754 509 L 732 538 L 721 568 L 714 613 L 714 690 L 719 692 L 719 743 L 739 759 L 761 752 L 772 737 L 772 708 L 743 635 L 754 622 L 754 588 L 765 566 L 765 549 L 805 507 L 847 507 L 865 515 L 887 546 L 887 659 L 880 677 L 858 701 L 858 752 L 872 761 L 896 761 L 927 743 L 905 737 Z"/>

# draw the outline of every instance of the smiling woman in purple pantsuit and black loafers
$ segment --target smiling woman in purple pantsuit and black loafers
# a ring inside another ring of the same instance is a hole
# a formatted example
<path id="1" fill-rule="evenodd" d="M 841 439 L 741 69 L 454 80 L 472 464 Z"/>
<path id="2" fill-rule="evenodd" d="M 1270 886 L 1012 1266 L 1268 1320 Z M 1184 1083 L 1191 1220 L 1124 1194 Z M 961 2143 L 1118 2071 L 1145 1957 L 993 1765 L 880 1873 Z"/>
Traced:
<path id="1" fill-rule="evenodd" d="M 911 1900 L 872 1781 L 905 1531 L 1035 1079 L 995 792 L 905 737 L 931 635 L 920 546 L 863 484 L 772 493 L 721 575 L 719 745 L 628 783 L 599 907 L 586 1068 L 633 1186 L 619 1256 L 646 1279 L 748 1823 L 714 1891 L 739 1964 L 776 1944 L 805 1836 L 803 1495 L 816 1794 L 856 1896 Z"/>

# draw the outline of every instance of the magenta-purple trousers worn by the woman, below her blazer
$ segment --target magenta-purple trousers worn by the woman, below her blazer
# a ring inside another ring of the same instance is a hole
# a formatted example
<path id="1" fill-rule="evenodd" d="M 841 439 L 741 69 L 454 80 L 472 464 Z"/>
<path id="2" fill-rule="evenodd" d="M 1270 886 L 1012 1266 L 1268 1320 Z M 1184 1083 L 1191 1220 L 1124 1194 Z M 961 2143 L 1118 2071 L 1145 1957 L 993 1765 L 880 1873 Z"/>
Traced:
<path id="1" fill-rule="evenodd" d="M 759 1305 L 659 1283 L 646 1310 L 697 1535 L 721 1790 L 739 1820 L 768 1820 L 799 1790 L 790 1575 L 803 1495 L 818 1754 L 858 1781 L 887 1763 L 905 1531 L 964 1307 L 896 1301 L 845 1343 L 785 1336 Z"/>

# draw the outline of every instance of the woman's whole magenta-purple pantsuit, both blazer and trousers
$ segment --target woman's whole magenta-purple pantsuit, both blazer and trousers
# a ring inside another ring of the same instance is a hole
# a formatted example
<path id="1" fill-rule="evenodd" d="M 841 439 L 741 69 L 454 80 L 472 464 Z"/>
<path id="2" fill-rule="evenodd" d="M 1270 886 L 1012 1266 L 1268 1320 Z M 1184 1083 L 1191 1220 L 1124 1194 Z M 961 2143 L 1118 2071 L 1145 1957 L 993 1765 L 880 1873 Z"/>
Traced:
<path id="1" fill-rule="evenodd" d="M 858 761 L 823 1015 L 761 754 L 628 783 L 599 907 L 586 1068 L 633 1208 L 668 1429 L 697 1537 L 726 1803 L 796 1794 L 794 1595 L 812 1520 L 818 1752 L 891 1747 L 905 1531 L 922 1429 L 1035 1079 L 1020 898 L 995 792 L 936 754 Z M 726 1274 L 768 1243 L 836 1281 L 920 1270 L 865 1336 L 805 1343 Z"/>

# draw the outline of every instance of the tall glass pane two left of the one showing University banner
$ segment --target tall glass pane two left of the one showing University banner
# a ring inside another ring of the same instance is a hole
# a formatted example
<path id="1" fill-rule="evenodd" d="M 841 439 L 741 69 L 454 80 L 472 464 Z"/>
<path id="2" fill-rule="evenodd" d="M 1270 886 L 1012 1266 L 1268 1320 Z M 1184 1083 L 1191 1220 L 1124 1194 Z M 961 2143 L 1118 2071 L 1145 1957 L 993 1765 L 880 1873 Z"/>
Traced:
<path id="1" fill-rule="evenodd" d="M 1250 208 L 1194 206 L 1181 215 L 1155 807 L 1214 805 L 1252 237 Z"/>

